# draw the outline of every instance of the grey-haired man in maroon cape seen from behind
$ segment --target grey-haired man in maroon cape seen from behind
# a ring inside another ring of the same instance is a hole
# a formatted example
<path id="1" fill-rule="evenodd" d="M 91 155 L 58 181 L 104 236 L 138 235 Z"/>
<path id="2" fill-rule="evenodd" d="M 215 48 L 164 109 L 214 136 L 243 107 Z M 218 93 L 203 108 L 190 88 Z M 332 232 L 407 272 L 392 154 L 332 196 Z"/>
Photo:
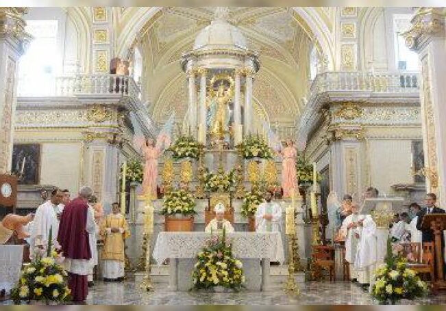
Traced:
<path id="1" fill-rule="evenodd" d="M 82 187 L 79 197 L 69 202 L 60 219 L 58 242 L 65 257 L 64 268 L 68 271 L 69 288 L 73 301 L 85 301 L 88 295 L 91 249 L 89 236 L 95 232 L 95 220 L 88 211 L 90 187 Z"/>

